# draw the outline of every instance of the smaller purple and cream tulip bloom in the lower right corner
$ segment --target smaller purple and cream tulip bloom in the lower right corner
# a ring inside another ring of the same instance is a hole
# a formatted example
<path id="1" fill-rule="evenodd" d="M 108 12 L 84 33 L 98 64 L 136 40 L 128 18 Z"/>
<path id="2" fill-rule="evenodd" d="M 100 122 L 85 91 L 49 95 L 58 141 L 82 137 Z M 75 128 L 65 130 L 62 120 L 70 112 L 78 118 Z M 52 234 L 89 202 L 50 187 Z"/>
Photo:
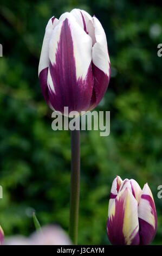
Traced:
<path id="1" fill-rule="evenodd" d="M 157 230 L 150 187 L 116 176 L 108 206 L 107 236 L 112 245 L 149 245 Z"/>

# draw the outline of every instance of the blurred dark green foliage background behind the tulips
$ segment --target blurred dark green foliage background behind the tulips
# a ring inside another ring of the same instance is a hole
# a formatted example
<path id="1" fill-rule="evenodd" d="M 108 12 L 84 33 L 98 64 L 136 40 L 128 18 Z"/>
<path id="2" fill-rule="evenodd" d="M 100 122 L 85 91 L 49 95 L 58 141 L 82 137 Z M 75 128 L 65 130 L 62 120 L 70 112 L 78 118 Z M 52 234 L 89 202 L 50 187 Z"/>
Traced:
<path id="1" fill-rule="evenodd" d="M 29 235 L 41 225 L 68 231 L 70 132 L 51 129 L 51 111 L 37 76 L 51 16 L 81 8 L 105 29 L 112 70 L 98 110 L 111 111 L 111 134 L 81 132 L 79 244 L 107 245 L 106 220 L 116 175 L 150 185 L 158 214 L 153 244 L 162 244 L 162 7 L 156 1 L 1 0 L 0 224 L 5 235 Z"/>

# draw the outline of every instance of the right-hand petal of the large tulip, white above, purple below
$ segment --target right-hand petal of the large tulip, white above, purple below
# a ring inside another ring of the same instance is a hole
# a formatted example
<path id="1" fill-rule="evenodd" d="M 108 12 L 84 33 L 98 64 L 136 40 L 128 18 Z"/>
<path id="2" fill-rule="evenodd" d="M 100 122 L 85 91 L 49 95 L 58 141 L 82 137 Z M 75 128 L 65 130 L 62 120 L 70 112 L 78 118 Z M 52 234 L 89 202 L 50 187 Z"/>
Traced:
<path id="1" fill-rule="evenodd" d="M 92 68 L 94 74 L 93 97 L 89 109 L 93 109 L 105 94 L 110 78 L 110 60 L 107 48 L 106 34 L 96 17 L 93 17 L 95 44 L 92 48 Z"/>

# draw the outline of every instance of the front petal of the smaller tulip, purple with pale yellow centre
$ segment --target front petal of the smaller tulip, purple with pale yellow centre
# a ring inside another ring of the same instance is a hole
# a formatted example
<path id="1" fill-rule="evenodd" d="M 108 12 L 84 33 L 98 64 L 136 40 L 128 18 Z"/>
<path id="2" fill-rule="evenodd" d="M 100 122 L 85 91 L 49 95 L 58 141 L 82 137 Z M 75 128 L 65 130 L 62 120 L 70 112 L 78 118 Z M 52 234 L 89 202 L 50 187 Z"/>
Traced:
<path id="1" fill-rule="evenodd" d="M 138 203 L 127 187 L 109 211 L 107 235 L 112 245 L 139 245 Z"/>

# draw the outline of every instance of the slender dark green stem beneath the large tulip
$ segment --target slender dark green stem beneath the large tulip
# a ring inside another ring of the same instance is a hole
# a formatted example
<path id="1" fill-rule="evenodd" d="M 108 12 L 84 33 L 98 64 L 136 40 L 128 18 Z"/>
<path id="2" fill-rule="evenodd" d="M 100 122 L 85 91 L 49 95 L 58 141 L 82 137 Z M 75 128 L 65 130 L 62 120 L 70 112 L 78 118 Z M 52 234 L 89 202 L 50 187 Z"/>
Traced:
<path id="1" fill-rule="evenodd" d="M 77 245 L 77 227 L 79 217 L 80 194 L 80 130 L 71 131 L 71 186 L 70 186 L 70 221 L 69 236 Z"/>

